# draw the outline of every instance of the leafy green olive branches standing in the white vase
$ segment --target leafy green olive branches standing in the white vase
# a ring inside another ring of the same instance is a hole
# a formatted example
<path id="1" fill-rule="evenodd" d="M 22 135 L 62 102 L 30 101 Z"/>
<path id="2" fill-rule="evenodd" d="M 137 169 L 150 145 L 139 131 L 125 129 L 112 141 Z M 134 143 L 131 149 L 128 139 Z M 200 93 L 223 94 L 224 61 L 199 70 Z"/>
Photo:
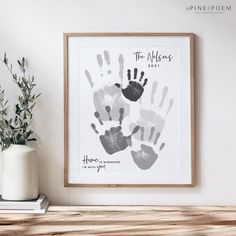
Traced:
<path id="1" fill-rule="evenodd" d="M 13 81 L 20 89 L 18 102 L 14 105 L 13 117 L 9 118 L 8 100 L 5 99 L 5 91 L 0 86 L 0 146 L 1 150 L 8 148 L 11 144 L 27 144 L 30 141 L 37 141 L 35 133 L 31 129 L 33 121 L 33 108 L 37 98 L 41 94 L 33 93 L 35 87 L 34 76 L 29 76 L 26 70 L 26 60 L 23 57 L 17 60 L 22 72 L 19 76 L 13 72 L 12 63 L 9 63 L 6 53 L 0 61 L 10 72 Z"/>

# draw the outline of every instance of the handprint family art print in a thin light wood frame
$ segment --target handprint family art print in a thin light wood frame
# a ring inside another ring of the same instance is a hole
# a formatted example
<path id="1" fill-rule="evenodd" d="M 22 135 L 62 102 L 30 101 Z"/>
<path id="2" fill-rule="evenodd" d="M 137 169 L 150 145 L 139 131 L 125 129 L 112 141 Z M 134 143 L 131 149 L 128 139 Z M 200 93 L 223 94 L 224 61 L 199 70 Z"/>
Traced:
<path id="1" fill-rule="evenodd" d="M 65 33 L 66 187 L 192 187 L 192 33 Z"/>

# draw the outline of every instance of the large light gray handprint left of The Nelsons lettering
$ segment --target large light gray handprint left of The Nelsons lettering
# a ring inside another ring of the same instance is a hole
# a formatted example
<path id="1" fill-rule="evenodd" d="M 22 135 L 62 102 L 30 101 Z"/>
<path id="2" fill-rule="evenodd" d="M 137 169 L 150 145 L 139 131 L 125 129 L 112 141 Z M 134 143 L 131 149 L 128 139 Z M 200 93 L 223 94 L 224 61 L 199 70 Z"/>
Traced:
<path id="1" fill-rule="evenodd" d="M 117 66 L 119 67 L 119 75 L 113 75 L 113 72 L 110 68 L 111 59 L 110 54 L 107 50 L 103 51 L 103 55 L 98 54 L 97 57 L 97 65 L 100 68 L 100 74 L 95 75 L 95 79 L 93 78 L 89 72 L 89 70 L 85 70 L 85 76 L 89 82 L 89 85 L 92 89 L 96 86 L 95 81 L 97 79 L 103 80 L 104 85 L 100 88 L 94 89 L 93 92 L 93 103 L 95 106 L 95 110 L 99 112 L 101 120 L 107 121 L 107 113 L 105 110 L 106 106 L 109 106 L 111 111 L 111 116 L 113 120 L 119 120 L 119 109 L 121 107 L 124 108 L 124 117 L 129 114 L 130 105 L 123 100 L 122 92 L 117 86 L 114 85 L 113 78 L 118 77 L 120 81 L 123 79 L 123 70 L 124 70 L 124 58 L 123 55 L 120 54 L 117 58 Z M 114 62 L 113 62 L 114 63 Z M 106 66 L 105 66 L 106 65 Z"/>

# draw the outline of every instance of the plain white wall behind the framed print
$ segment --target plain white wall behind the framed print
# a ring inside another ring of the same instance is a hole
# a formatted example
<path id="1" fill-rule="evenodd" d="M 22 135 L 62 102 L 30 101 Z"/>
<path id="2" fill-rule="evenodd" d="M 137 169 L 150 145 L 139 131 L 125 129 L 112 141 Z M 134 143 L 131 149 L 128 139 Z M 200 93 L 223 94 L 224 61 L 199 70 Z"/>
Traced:
<path id="1" fill-rule="evenodd" d="M 40 191 L 53 204 L 236 204 L 236 2 L 231 12 L 195 14 L 188 0 L 0 0 L 0 53 L 30 62 L 42 97 Z M 204 1 L 191 1 L 204 3 Z M 63 187 L 63 32 L 193 32 L 196 39 L 197 186 Z M 13 85 L 0 66 L 0 84 Z"/>

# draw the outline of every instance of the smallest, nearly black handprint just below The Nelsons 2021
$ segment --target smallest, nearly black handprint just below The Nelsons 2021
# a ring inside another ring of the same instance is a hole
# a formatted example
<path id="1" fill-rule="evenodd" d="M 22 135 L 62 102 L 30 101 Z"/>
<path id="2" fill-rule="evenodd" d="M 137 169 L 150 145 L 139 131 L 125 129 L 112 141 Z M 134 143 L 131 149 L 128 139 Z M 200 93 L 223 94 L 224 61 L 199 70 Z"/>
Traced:
<path id="1" fill-rule="evenodd" d="M 127 70 L 127 78 L 129 84 L 126 88 L 122 88 L 122 84 L 116 83 L 115 85 L 118 88 L 121 88 L 122 94 L 130 101 L 136 102 L 143 94 L 144 87 L 148 82 L 148 79 L 144 79 L 144 72 L 142 71 L 140 73 L 139 79 L 137 78 L 138 69 L 134 68 L 134 76 L 133 79 L 131 79 L 131 70 Z"/>

